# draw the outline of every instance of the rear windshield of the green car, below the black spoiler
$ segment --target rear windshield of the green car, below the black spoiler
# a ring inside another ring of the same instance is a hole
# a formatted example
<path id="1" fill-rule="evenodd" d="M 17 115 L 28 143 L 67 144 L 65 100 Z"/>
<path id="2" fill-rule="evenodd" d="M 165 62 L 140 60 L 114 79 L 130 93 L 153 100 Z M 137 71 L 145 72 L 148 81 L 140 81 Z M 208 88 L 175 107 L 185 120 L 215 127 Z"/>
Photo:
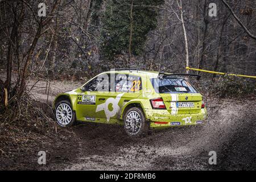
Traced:
<path id="1" fill-rule="evenodd" d="M 183 78 L 151 78 L 156 93 L 198 93 L 195 88 Z"/>

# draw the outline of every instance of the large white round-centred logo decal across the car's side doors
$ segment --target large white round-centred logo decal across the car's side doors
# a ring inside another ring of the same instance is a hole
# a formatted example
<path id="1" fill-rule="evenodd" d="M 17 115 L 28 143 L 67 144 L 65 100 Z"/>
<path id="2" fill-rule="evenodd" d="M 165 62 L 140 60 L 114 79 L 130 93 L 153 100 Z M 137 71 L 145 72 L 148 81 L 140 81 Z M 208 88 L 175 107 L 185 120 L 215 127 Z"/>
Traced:
<path id="1" fill-rule="evenodd" d="M 118 94 L 116 98 L 110 97 L 106 100 L 105 103 L 100 104 L 96 108 L 96 113 L 98 111 L 104 110 L 106 114 L 107 121 L 109 122 L 109 119 L 111 117 L 114 117 L 115 114 L 118 113 L 120 110 L 120 107 L 118 106 L 118 102 L 120 101 L 121 97 L 123 96 L 124 93 Z M 109 110 L 109 104 L 112 104 L 113 110 Z"/>

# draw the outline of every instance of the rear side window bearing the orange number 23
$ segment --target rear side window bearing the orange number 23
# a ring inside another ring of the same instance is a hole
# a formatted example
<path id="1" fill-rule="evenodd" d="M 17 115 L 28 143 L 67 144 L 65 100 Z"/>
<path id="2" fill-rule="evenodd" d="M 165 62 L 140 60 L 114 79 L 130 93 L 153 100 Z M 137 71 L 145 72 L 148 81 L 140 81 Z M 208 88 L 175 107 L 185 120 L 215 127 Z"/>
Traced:
<path id="1" fill-rule="evenodd" d="M 141 77 L 123 74 L 115 76 L 115 92 L 137 92 L 141 89 Z"/>

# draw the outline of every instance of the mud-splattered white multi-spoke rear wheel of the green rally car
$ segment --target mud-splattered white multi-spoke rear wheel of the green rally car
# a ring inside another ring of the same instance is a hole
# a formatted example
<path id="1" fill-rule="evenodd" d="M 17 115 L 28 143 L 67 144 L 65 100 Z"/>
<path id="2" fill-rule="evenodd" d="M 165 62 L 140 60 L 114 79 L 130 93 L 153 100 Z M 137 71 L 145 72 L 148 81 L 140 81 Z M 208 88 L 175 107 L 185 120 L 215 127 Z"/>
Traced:
<path id="1" fill-rule="evenodd" d="M 149 129 L 141 108 L 131 107 L 127 110 L 123 120 L 125 123 L 125 131 L 130 137 L 138 137 L 146 134 Z"/>

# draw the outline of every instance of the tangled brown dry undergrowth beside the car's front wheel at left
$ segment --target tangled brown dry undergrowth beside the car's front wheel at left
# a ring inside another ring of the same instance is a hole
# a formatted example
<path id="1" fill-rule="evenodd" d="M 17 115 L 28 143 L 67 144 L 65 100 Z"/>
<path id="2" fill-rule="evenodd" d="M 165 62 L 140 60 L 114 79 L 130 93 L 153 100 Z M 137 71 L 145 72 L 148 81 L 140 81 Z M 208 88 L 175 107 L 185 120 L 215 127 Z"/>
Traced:
<path id="1" fill-rule="evenodd" d="M 20 155 L 36 156 L 40 150 L 51 150 L 56 142 L 67 141 L 72 133 L 60 129 L 52 119 L 51 107 L 33 100 L 28 93 L 11 98 L 9 105 L 0 106 L 0 156 L 2 167 Z M 15 167 L 15 163 L 13 164 Z"/>

